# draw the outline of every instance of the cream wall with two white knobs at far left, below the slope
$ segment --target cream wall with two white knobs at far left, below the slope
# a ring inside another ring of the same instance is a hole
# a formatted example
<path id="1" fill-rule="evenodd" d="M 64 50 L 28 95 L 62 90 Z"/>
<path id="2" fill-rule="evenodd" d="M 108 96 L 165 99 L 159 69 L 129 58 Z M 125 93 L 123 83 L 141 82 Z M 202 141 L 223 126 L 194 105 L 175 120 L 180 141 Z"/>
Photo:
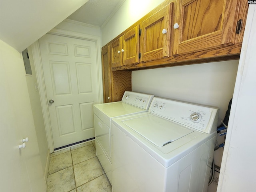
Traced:
<path id="1" fill-rule="evenodd" d="M 0 191 L 45 192 L 23 59 L 2 40 L 0 67 Z M 26 137 L 26 148 L 18 149 Z"/>

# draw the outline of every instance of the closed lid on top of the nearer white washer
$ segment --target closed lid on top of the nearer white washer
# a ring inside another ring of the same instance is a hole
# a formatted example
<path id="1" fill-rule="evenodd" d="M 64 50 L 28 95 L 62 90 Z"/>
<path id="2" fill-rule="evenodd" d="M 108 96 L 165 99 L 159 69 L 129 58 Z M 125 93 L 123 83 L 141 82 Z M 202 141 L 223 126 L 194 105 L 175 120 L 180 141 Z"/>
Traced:
<path id="1" fill-rule="evenodd" d="M 174 142 L 193 132 L 193 130 L 153 114 L 122 122 L 158 147 Z"/>

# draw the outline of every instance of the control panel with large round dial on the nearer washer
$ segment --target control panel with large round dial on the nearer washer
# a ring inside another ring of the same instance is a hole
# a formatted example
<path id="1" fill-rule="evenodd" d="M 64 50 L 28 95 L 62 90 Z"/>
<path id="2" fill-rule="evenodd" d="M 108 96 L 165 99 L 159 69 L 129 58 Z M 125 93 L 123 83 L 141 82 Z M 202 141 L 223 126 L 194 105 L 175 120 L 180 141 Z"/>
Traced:
<path id="1" fill-rule="evenodd" d="M 218 108 L 154 97 L 149 112 L 190 128 L 211 133 L 218 123 Z"/>

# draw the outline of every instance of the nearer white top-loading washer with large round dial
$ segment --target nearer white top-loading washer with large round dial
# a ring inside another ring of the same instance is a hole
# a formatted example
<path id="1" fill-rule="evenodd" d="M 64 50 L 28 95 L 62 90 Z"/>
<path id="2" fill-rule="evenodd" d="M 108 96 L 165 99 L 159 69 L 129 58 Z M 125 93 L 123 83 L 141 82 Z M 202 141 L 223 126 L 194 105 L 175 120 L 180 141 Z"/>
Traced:
<path id="1" fill-rule="evenodd" d="M 154 97 L 112 119 L 113 192 L 206 192 L 218 108 Z"/>

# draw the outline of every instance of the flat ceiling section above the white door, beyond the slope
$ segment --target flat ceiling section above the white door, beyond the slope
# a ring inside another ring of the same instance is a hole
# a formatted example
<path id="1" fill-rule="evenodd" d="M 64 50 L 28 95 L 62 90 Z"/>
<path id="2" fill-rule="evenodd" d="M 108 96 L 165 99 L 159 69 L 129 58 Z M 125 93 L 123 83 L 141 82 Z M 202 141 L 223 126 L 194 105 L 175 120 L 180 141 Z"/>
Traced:
<path id="1" fill-rule="evenodd" d="M 102 26 L 106 20 L 123 4 L 125 0 L 89 0 L 68 19 Z"/>

